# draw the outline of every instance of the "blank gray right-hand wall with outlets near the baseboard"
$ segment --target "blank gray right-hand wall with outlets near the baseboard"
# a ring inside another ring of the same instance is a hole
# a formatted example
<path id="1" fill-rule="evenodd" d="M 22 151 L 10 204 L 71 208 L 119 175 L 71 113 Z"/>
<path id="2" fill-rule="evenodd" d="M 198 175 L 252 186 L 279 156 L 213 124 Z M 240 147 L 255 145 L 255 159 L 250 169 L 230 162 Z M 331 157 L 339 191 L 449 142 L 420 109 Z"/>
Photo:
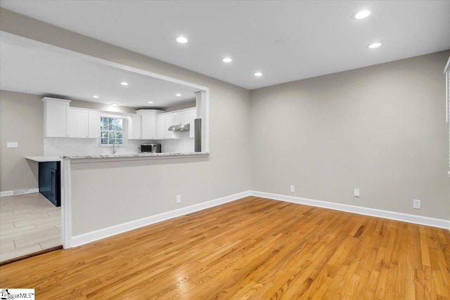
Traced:
<path id="1" fill-rule="evenodd" d="M 450 219 L 449 56 L 253 90 L 251 189 Z"/>

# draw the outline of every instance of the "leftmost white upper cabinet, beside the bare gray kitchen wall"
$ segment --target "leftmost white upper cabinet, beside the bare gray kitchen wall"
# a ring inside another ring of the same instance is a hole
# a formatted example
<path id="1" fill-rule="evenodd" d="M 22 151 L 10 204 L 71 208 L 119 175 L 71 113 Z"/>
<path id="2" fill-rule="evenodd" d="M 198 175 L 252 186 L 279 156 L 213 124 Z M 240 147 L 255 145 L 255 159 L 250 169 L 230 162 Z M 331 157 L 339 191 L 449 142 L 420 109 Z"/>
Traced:
<path id="1" fill-rule="evenodd" d="M 44 138 L 67 137 L 70 100 L 43 98 L 42 101 L 44 101 Z"/>

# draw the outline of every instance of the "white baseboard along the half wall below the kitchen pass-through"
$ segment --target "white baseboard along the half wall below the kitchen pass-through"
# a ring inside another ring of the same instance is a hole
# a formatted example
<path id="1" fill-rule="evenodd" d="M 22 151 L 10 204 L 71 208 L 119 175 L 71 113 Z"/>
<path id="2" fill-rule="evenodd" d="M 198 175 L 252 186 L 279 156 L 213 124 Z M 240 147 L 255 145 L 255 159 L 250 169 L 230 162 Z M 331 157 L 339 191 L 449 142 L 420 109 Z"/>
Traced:
<path id="1" fill-rule="evenodd" d="M 94 242 L 96 240 L 101 240 L 105 237 L 110 237 L 112 235 L 124 233 L 129 230 L 141 228 L 143 226 L 148 226 L 153 223 L 158 223 L 158 222 L 165 221 L 168 219 L 173 219 L 173 218 L 176 218 L 177 216 L 184 216 L 185 214 L 191 214 L 195 211 L 200 211 L 200 210 L 207 209 L 210 207 L 215 207 L 217 205 L 224 204 L 226 202 L 232 202 L 232 201 L 235 201 L 240 198 L 247 197 L 247 196 L 250 196 L 250 191 L 243 192 L 243 193 L 237 193 L 237 194 L 226 196 L 226 197 L 221 197 L 216 200 L 211 200 L 208 202 L 195 204 L 190 207 L 183 207 L 181 209 L 167 211 L 162 214 L 157 214 L 155 216 L 148 216 L 143 219 L 138 219 L 138 220 L 134 220 L 134 221 L 129 221 L 127 223 L 110 226 L 108 228 L 95 230 L 90 233 L 84 233 L 82 235 L 75 235 L 74 237 L 71 237 L 71 239 L 70 239 L 70 247 L 77 247 L 79 245 L 86 244 L 88 242 Z"/>

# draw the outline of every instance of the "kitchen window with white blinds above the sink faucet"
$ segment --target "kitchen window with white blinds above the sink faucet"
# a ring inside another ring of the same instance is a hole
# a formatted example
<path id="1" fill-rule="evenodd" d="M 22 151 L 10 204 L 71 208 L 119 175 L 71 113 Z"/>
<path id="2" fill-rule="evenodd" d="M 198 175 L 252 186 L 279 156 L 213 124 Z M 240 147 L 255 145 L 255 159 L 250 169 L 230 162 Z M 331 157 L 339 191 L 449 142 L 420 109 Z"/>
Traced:
<path id="1" fill-rule="evenodd" d="M 127 145 L 127 119 L 119 117 L 100 118 L 100 143 L 99 145 Z"/>

